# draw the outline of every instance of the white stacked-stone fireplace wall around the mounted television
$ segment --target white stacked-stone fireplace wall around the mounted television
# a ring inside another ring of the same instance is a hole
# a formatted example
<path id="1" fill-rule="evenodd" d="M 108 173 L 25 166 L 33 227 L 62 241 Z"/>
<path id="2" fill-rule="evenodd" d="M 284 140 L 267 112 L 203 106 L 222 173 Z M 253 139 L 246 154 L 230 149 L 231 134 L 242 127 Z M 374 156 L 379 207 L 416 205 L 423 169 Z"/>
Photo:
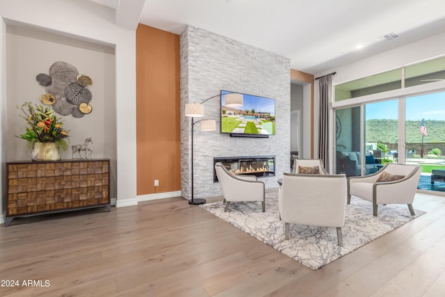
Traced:
<path id="1" fill-rule="evenodd" d="M 220 195 L 213 183 L 213 157 L 275 155 L 275 177 L 262 178 L 266 188 L 290 170 L 291 77 L 288 58 L 188 26 L 180 38 L 181 59 L 181 195 L 191 198 L 191 118 L 188 102 L 203 102 L 229 90 L 275 99 L 276 134 L 269 138 L 230 137 L 220 133 L 220 98 L 204 103 L 204 118 L 216 120 L 216 131 L 194 125 L 195 198 Z"/>

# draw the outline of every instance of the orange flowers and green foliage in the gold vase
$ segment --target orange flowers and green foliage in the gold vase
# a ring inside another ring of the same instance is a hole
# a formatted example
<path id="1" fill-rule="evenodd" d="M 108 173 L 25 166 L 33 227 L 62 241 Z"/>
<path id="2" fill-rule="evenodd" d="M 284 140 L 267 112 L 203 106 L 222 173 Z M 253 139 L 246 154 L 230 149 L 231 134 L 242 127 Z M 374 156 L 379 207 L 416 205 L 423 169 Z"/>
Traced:
<path id="1" fill-rule="evenodd" d="M 34 143 L 56 143 L 60 150 L 67 150 L 68 144 L 65 138 L 69 137 L 67 131 L 63 129 L 63 120 L 59 120 L 54 115 L 54 111 L 49 107 L 25 102 L 22 106 L 17 106 L 22 111 L 20 115 L 26 121 L 26 133 L 17 136 L 29 141 L 32 148 Z"/>

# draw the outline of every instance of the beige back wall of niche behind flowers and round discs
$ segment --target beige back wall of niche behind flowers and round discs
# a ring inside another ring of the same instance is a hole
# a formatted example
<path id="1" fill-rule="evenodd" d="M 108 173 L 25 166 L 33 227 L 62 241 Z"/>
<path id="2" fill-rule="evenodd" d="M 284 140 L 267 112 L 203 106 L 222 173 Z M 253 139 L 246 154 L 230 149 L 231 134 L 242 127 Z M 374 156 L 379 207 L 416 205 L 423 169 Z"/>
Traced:
<path id="1" fill-rule="evenodd" d="M 70 63 L 79 73 L 88 74 L 92 78 L 92 85 L 88 87 L 92 93 L 90 114 L 74 118 L 72 115 L 55 113 L 57 118 L 64 121 L 65 129 L 70 130 L 70 145 L 83 144 L 85 138 L 92 137 L 94 143 L 90 147 L 93 150 L 93 158 L 115 159 L 114 47 L 95 45 L 19 26 L 8 26 L 6 36 L 6 160 L 30 159 L 30 151 L 26 150 L 28 143 L 15 137 L 23 134 L 26 127 L 24 120 L 19 117 L 22 113 L 16 106 L 29 101 L 42 104 L 40 95 L 47 92 L 46 88 L 35 80 L 35 76 L 39 73 L 48 74 L 49 67 L 56 61 Z M 106 113 L 108 106 L 113 107 L 111 113 Z M 113 145 L 107 143 L 108 141 Z M 111 146 L 111 154 L 105 152 L 108 146 Z M 72 150 L 69 148 L 61 152 L 61 156 L 62 159 L 71 159 Z"/>

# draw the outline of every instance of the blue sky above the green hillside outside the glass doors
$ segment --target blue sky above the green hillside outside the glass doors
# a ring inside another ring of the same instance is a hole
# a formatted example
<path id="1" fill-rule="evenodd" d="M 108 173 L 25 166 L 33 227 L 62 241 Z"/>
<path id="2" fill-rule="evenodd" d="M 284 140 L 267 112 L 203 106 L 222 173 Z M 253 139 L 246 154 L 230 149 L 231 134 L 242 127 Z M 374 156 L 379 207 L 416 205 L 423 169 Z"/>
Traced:
<path id="1" fill-rule="evenodd" d="M 406 120 L 445 120 L 445 92 L 407 97 Z M 366 104 L 366 120 L 397 119 L 398 100 Z"/>

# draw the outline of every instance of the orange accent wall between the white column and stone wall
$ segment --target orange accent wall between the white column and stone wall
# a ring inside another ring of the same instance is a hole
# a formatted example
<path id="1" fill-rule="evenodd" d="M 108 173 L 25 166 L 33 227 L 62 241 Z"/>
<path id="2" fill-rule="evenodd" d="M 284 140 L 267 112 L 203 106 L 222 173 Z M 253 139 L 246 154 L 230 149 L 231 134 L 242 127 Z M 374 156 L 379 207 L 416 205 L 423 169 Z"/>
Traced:
<path id="1" fill-rule="evenodd" d="M 139 24 L 136 29 L 137 195 L 181 190 L 179 104 L 179 35 Z M 155 179 L 159 179 L 159 186 L 154 186 Z"/>

